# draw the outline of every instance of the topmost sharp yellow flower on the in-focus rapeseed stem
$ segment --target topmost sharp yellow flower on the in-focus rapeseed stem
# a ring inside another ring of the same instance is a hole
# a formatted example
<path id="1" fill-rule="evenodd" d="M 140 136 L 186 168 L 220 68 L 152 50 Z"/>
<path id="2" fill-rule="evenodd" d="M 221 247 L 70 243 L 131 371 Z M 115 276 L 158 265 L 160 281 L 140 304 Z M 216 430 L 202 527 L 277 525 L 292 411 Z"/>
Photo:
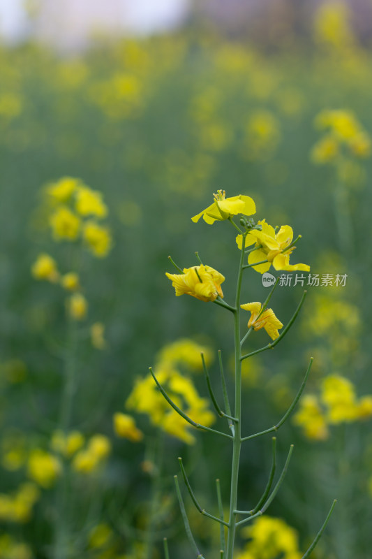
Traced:
<path id="1" fill-rule="evenodd" d="M 200 214 L 194 215 L 191 219 L 193 222 L 198 222 L 200 217 L 203 217 L 204 222 L 211 225 L 214 222 L 224 221 L 233 215 L 253 215 L 255 214 L 255 203 L 250 196 L 232 196 L 226 198 L 225 191 L 218 190 L 214 194 L 214 203 L 205 208 Z"/>

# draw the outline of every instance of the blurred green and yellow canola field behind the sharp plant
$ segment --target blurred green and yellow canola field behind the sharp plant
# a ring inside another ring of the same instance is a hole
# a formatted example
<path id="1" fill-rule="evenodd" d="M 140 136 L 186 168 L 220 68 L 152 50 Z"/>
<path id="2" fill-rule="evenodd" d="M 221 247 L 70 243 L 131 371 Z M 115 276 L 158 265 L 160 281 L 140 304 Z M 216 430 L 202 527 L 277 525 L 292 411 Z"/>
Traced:
<path id="1" fill-rule="evenodd" d="M 232 300 L 234 231 L 191 222 L 218 189 L 292 226 L 291 261 L 333 283 L 309 286 L 285 340 L 244 361 L 244 430 L 255 433 L 278 422 L 314 356 L 277 434 L 281 465 L 295 444 L 290 471 L 267 516 L 241 530 L 237 558 L 300 559 L 334 498 L 313 557 L 369 557 L 372 55 L 343 10 L 323 10 L 314 29 L 311 43 L 275 52 L 198 27 L 72 57 L 0 48 L 0 558 L 155 559 L 163 537 L 171 558 L 191 557 L 177 456 L 203 507 L 217 514 L 217 477 L 228 503 L 230 444 L 174 417 L 148 373 L 200 422 L 221 421 L 200 349 L 216 392 L 223 351 L 231 391 L 230 316 L 175 298 L 165 277 L 169 254 L 188 268 L 198 251 Z M 283 323 L 303 289 L 276 289 Z M 255 270 L 244 290 L 267 295 Z M 262 330 L 249 346 L 268 341 Z M 242 452 L 244 509 L 265 488 L 269 437 Z M 184 498 L 200 546 L 218 556 L 218 527 Z"/>

